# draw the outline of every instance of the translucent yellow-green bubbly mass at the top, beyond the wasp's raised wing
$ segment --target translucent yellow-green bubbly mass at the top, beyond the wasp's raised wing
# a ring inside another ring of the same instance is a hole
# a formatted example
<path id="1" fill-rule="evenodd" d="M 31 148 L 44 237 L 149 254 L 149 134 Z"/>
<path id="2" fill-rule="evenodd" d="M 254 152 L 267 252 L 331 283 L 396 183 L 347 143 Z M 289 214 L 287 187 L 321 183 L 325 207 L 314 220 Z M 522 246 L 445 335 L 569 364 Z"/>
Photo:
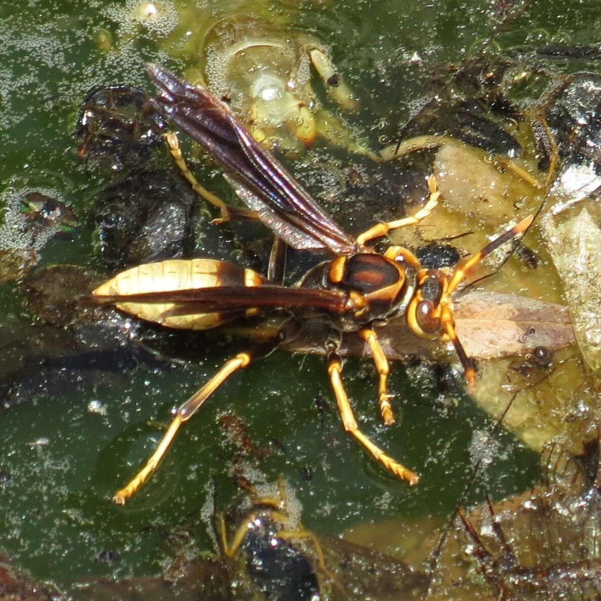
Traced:
<path id="1" fill-rule="evenodd" d="M 146 10 L 151 5 L 150 10 Z M 185 61 L 185 75 L 231 103 L 252 134 L 269 148 L 299 153 L 316 138 L 375 156 L 355 142 L 340 118 L 322 106 L 320 88 L 346 111 L 359 103 L 332 64 L 328 47 L 294 26 L 294 11 L 273 11 L 268 2 L 236 4 L 236 10 L 201 4 L 128 2 L 113 7 L 117 35 L 109 52 L 150 44 Z M 189 23 L 195 23 L 193 29 Z"/>

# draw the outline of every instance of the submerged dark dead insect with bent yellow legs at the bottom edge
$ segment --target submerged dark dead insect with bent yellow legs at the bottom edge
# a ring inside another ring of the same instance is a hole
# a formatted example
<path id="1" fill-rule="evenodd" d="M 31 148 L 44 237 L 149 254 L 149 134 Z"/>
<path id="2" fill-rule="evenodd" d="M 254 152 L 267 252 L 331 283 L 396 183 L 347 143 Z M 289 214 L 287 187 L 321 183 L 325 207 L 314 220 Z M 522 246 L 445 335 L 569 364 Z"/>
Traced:
<path id="1" fill-rule="evenodd" d="M 213 513 L 221 557 L 240 597 L 254 599 L 260 591 L 261 599 L 273 601 L 358 601 L 426 590 L 427 576 L 403 561 L 307 530 L 301 505 L 281 479 L 277 490 L 250 484 L 248 492 L 225 514 Z"/>

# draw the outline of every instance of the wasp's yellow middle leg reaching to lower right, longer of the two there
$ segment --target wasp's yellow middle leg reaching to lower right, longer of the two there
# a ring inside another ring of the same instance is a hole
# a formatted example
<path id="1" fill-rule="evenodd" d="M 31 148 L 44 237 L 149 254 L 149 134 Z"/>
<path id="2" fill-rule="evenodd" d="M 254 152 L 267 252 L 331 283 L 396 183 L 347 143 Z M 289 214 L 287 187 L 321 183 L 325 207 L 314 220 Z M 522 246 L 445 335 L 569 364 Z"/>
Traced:
<path id="1" fill-rule="evenodd" d="M 335 352 L 330 352 L 328 354 L 328 374 L 330 376 L 330 381 L 332 383 L 332 389 L 334 389 L 334 394 L 336 396 L 336 400 L 338 403 L 338 410 L 340 411 L 340 416 L 343 421 L 344 429 L 347 432 L 350 432 L 355 438 L 380 462 L 382 465 L 388 469 L 388 471 L 392 472 L 392 474 L 401 478 L 401 480 L 407 480 L 410 486 L 413 484 L 417 484 L 419 482 L 419 476 L 412 472 L 410 469 L 407 469 L 401 463 L 398 463 L 392 457 L 388 456 L 382 449 L 376 447 L 370 439 L 365 436 L 359 427 L 357 426 L 357 422 L 355 420 L 355 415 L 353 415 L 353 410 L 349 403 L 349 397 L 347 397 L 346 391 L 344 390 L 344 385 L 342 382 L 342 361 L 340 357 Z"/>

